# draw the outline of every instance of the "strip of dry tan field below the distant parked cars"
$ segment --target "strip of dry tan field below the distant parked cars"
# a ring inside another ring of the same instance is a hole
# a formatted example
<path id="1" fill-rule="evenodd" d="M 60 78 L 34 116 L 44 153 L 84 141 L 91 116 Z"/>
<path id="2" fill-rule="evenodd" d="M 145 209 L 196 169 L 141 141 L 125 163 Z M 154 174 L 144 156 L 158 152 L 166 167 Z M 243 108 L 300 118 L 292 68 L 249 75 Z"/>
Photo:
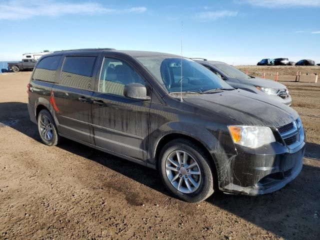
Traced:
<path id="1" fill-rule="evenodd" d="M 275 75 L 278 71 L 280 75 L 295 75 L 297 71 L 305 74 L 320 74 L 320 66 L 257 66 L 257 65 L 238 65 L 235 66 L 241 71 L 248 71 L 249 75 L 262 76 L 263 72 L 266 75 Z"/>

